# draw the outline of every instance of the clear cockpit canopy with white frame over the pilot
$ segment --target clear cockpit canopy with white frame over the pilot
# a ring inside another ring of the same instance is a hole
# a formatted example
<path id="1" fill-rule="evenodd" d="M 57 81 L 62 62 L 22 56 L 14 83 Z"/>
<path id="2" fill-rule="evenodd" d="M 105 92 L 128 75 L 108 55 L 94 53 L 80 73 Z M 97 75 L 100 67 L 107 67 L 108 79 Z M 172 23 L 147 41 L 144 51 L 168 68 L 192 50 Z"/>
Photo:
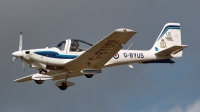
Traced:
<path id="1" fill-rule="evenodd" d="M 93 45 L 88 42 L 85 42 L 83 40 L 68 39 L 65 41 L 61 41 L 52 47 L 56 47 L 56 48 L 60 49 L 61 51 L 67 50 L 70 52 L 81 52 L 81 51 L 86 51 L 91 46 L 93 46 Z"/>

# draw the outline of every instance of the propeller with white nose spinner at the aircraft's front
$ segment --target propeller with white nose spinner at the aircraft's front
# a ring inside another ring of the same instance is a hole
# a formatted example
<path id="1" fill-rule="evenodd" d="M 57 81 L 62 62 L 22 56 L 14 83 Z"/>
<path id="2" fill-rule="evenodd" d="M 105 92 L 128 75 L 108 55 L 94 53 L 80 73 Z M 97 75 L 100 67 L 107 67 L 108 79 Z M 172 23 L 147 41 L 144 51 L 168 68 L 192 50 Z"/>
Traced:
<path id="1" fill-rule="evenodd" d="M 19 36 L 19 51 L 15 51 L 12 53 L 12 62 L 14 62 L 17 58 L 21 58 L 21 62 L 22 62 L 22 68 L 23 71 L 25 71 L 25 66 L 24 66 L 24 62 L 23 62 L 23 52 L 22 52 L 22 32 L 20 32 L 20 36 Z"/>

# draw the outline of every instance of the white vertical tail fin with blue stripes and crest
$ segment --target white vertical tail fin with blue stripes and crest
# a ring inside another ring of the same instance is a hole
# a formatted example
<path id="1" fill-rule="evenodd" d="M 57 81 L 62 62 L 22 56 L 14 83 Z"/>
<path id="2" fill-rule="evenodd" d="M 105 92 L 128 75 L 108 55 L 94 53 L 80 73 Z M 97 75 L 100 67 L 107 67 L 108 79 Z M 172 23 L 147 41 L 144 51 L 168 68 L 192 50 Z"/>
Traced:
<path id="1" fill-rule="evenodd" d="M 159 52 L 169 51 L 168 49 L 174 46 L 182 46 L 180 23 L 167 23 L 160 32 L 151 50 L 155 51 L 155 54 L 160 54 Z M 182 50 L 179 49 L 178 52 L 172 51 L 176 53 L 171 55 L 173 57 L 182 57 Z"/>

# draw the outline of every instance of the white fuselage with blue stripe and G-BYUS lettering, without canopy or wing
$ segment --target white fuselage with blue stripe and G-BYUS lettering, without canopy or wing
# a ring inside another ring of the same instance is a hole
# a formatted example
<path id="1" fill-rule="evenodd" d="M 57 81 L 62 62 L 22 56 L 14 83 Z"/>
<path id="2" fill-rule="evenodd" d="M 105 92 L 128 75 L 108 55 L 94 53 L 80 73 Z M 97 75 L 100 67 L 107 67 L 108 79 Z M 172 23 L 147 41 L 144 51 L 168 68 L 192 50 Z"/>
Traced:
<path id="1" fill-rule="evenodd" d="M 26 56 L 26 51 L 23 51 L 23 59 L 31 65 L 33 68 L 45 69 L 47 65 L 64 67 L 67 62 L 74 60 L 76 57 L 81 55 L 83 52 L 75 52 L 66 54 L 57 48 L 46 48 L 46 49 L 34 49 L 29 50 L 29 55 Z M 68 58 L 68 59 L 66 59 Z M 153 60 L 169 59 L 170 57 L 159 57 L 151 52 L 150 50 L 120 50 L 114 55 L 104 67 L 117 66 L 131 63 L 141 63 Z M 31 60 L 31 61 L 30 61 Z"/>

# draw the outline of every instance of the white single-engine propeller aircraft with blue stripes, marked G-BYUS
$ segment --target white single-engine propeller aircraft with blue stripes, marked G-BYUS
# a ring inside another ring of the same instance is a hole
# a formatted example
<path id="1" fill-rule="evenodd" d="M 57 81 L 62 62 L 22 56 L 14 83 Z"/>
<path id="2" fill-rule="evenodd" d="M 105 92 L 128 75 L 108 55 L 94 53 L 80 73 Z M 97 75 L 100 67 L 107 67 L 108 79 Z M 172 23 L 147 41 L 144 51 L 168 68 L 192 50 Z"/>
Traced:
<path id="1" fill-rule="evenodd" d="M 134 30 L 120 28 L 92 45 L 78 39 L 67 39 L 52 47 L 22 50 L 22 33 L 19 51 L 13 52 L 13 61 L 21 58 L 31 68 L 39 70 L 15 82 L 35 81 L 42 84 L 45 80 L 59 80 L 55 85 L 61 90 L 75 85 L 68 78 L 85 75 L 91 78 L 102 72 L 102 68 L 131 63 L 175 63 L 171 58 L 182 57 L 182 50 L 188 45 L 181 44 L 179 23 L 167 23 L 150 50 L 121 50 L 122 44 L 136 34 Z M 24 69 L 24 65 L 23 65 Z"/>

